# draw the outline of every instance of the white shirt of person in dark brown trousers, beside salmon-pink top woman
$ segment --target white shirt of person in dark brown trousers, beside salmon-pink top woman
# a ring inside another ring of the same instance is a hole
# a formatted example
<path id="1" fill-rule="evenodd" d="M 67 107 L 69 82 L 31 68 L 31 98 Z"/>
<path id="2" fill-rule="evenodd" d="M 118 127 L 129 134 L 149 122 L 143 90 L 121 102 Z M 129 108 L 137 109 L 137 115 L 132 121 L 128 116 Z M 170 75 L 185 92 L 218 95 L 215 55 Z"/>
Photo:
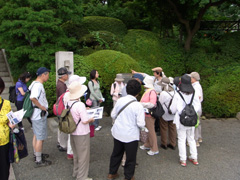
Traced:
<path id="1" fill-rule="evenodd" d="M 160 97 L 159 97 L 159 101 L 162 104 L 162 107 L 165 111 L 165 113 L 162 116 L 162 118 L 165 121 L 172 121 L 174 119 L 174 115 L 169 114 L 168 108 L 167 108 L 170 103 L 170 100 L 173 98 L 173 96 L 174 96 L 174 91 L 171 91 L 171 92 L 162 91 L 160 94 Z"/>

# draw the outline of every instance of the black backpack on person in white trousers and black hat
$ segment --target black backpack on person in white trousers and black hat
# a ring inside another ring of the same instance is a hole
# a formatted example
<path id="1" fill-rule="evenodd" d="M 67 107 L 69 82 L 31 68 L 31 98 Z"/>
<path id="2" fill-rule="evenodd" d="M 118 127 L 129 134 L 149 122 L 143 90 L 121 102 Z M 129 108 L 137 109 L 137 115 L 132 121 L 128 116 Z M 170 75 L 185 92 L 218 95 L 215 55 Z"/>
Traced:
<path id="1" fill-rule="evenodd" d="M 197 124 L 197 119 L 198 119 L 197 113 L 192 105 L 195 91 L 193 91 L 193 95 L 189 104 L 186 103 L 182 94 L 179 91 L 178 93 L 186 104 L 185 108 L 182 110 L 182 113 L 180 114 L 181 124 L 184 126 L 190 126 L 190 127 L 195 126 Z"/>

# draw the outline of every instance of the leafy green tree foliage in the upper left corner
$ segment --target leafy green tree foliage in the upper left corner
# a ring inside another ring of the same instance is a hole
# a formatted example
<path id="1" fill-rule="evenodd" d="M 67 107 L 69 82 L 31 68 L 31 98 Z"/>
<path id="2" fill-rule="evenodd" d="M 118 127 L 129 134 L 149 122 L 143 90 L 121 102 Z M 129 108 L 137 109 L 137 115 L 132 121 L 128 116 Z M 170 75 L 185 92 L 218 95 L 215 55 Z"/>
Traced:
<path id="1" fill-rule="evenodd" d="M 76 40 L 61 25 L 81 21 L 80 1 L 5 0 L 0 3 L 0 43 L 7 50 L 13 75 L 50 67 L 54 54 L 71 50 Z M 53 66 L 54 67 L 54 66 Z"/>

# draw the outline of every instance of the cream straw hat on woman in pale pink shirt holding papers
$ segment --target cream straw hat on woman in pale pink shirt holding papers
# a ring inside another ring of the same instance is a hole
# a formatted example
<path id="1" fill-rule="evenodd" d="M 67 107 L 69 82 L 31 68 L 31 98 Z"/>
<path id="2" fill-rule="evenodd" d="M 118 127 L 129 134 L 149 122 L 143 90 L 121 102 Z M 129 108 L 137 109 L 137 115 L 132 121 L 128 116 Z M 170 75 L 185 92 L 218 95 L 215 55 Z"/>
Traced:
<path id="1" fill-rule="evenodd" d="M 72 82 L 69 85 L 68 89 L 69 89 L 69 98 L 70 98 L 70 100 L 74 100 L 74 99 L 78 99 L 81 96 L 83 96 L 83 94 L 87 90 L 87 86 L 82 85 L 81 83 L 75 81 L 75 82 Z"/>

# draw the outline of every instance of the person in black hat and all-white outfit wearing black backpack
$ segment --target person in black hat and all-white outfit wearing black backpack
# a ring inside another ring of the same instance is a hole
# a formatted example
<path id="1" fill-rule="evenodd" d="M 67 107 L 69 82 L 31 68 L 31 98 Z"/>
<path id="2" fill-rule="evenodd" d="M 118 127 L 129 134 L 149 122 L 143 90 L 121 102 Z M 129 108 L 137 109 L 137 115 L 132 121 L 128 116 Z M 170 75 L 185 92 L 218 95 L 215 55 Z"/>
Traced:
<path id="1" fill-rule="evenodd" d="M 174 95 L 170 110 L 175 114 L 173 123 L 176 124 L 177 128 L 180 164 L 183 167 L 187 165 L 187 140 L 190 147 L 190 156 L 188 159 L 194 165 L 198 165 L 198 153 L 196 141 L 194 139 L 194 131 L 197 123 L 196 112 L 201 108 L 199 95 L 194 91 L 191 84 L 191 78 L 187 74 L 181 77 L 178 88 L 179 91 Z"/>

